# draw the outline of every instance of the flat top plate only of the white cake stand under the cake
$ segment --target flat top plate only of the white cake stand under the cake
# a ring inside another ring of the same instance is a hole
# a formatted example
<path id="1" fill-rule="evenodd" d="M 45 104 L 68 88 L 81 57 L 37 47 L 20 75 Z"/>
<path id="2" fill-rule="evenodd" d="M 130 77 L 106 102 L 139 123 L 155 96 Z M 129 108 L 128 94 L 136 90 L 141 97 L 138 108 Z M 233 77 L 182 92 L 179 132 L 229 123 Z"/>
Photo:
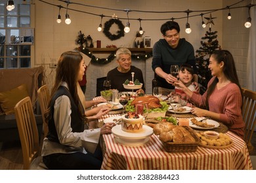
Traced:
<path id="1" fill-rule="evenodd" d="M 129 140 L 129 139 L 145 139 L 146 137 L 150 137 L 153 134 L 152 127 L 149 127 L 147 125 L 143 125 L 143 131 L 138 133 L 130 133 L 127 131 L 123 131 L 121 129 L 121 125 L 115 125 L 112 127 L 112 133 L 119 137 L 122 140 Z"/>

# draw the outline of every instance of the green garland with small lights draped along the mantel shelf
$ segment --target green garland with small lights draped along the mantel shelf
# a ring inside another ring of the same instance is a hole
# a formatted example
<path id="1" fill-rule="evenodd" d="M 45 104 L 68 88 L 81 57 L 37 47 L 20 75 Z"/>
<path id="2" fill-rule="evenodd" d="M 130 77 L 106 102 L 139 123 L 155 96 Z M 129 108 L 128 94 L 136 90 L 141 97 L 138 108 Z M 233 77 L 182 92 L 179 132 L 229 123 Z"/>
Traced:
<path id="1" fill-rule="evenodd" d="M 96 58 L 91 52 L 90 50 L 88 50 L 87 48 L 83 48 L 83 47 L 79 47 L 78 50 L 80 52 L 82 52 L 83 54 L 89 56 L 89 58 L 91 58 L 91 62 L 95 63 L 95 64 L 107 64 L 110 63 L 112 60 L 114 60 L 116 58 L 116 52 L 113 52 L 112 54 L 110 54 L 107 58 Z M 148 59 L 151 58 L 153 56 L 152 52 L 147 53 L 147 54 L 132 54 L 131 58 L 140 60 L 140 59 Z"/>

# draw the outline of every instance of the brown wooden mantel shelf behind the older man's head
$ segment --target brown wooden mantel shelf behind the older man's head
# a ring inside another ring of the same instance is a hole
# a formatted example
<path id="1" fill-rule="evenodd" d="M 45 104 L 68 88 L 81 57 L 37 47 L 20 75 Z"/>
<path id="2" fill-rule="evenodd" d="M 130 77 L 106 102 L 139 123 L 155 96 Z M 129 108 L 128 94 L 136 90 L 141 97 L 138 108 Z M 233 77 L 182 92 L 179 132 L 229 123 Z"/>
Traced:
<path id="1" fill-rule="evenodd" d="M 110 54 L 118 48 L 87 48 L 93 54 Z M 132 54 L 146 54 L 152 52 L 152 48 L 128 48 Z"/>

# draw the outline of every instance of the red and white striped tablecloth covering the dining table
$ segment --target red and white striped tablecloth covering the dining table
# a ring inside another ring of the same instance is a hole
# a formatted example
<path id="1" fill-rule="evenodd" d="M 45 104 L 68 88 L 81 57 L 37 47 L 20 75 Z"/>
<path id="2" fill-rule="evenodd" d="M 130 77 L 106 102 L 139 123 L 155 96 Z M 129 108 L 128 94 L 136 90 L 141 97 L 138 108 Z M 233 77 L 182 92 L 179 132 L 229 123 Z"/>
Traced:
<path id="1" fill-rule="evenodd" d="M 104 116 L 118 116 L 109 114 Z M 102 118 L 102 119 L 104 119 Z M 156 135 L 144 146 L 125 146 L 115 141 L 113 134 L 103 135 L 104 159 L 101 169 L 175 169 L 175 170 L 251 170 L 251 159 L 245 142 L 227 132 L 233 145 L 225 149 L 198 147 L 196 152 L 169 153 Z"/>

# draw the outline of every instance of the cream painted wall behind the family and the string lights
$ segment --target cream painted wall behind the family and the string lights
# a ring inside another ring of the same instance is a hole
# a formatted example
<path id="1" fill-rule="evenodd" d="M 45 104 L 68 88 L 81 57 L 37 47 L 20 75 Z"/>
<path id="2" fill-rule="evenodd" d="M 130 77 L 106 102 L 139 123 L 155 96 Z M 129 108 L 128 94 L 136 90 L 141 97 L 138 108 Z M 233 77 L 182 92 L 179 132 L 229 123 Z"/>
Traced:
<path id="1" fill-rule="evenodd" d="M 60 1 L 49 1 L 55 5 L 62 5 L 66 7 L 64 3 Z M 72 1 L 84 3 L 86 5 L 95 5 L 98 7 L 106 8 L 116 8 L 125 9 L 129 8 L 131 10 L 148 10 L 148 11 L 174 11 L 174 10 L 207 10 L 207 9 L 219 9 L 226 7 L 232 3 L 236 3 L 236 0 L 228 1 L 210 1 L 210 0 L 86 0 L 86 1 Z M 243 5 L 249 4 L 249 1 L 245 1 Z M 78 7 L 70 4 L 69 8 L 74 8 L 77 10 L 82 10 L 86 12 L 93 12 L 95 14 L 104 14 L 106 16 L 112 16 L 114 13 L 119 18 L 126 18 L 126 12 L 119 12 L 114 10 L 103 10 L 95 9 L 90 7 Z M 200 14 L 201 12 L 198 12 Z M 240 82 L 242 86 L 246 86 L 245 71 L 246 69 L 246 49 L 247 49 L 247 35 L 248 29 L 244 27 L 244 21 L 247 18 L 247 12 L 245 8 L 239 8 L 236 10 L 231 10 L 232 19 L 227 20 L 226 16 L 228 11 L 217 11 L 213 12 L 212 16 L 217 17 L 214 19 L 215 25 L 212 27 L 212 31 L 218 31 L 218 40 L 222 48 L 230 50 L 236 57 L 236 62 L 238 63 L 238 74 L 240 76 Z M 93 37 L 94 43 L 96 40 L 101 41 L 102 48 L 106 47 L 108 44 L 115 44 L 119 46 L 133 46 L 133 41 L 135 39 L 136 32 L 139 30 L 139 21 L 130 20 L 131 31 L 126 33 L 125 37 L 118 39 L 117 41 L 110 41 L 104 33 L 98 32 L 97 27 L 100 24 L 100 16 L 92 16 L 90 14 L 84 14 L 81 12 L 74 12 L 69 10 L 68 14 L 72 20 L 72 24 L 66 25 L 64 23 L 64 18 L 66 14 L 66 9 L 61 9 L 60 15 L 62 16 L 62 23 L 57 24 L 56 18 L 58 16 L 58 7 L 53 7 L 47 5 L 40 1 L 35 1 L 35 66 L 45 64 L 47 73 L 53 72 L 52 69 L 48 69 L 49 63 L 57 62 L 58 57 L 62 52 L 67 50 L 73 50 L 78 45 L 75 44 L 75 39 L 81 30 L 82 33 L 91 35 Z M 192 14 L 191 14 L 192 15 Z M 169 14 L 146 14 L 139 12 L 130 12 L 129 18 L 141 18 L 142 20 L 147 18 L 179 18 L 185 17 L 186 13 L 169 13 Z M 208 15 L 205 15 L 209 17 Z M 110 18 L 103 18 L 102 25 L 104 22 L 108 21 Z M 121 20 L 125 24 L 126 20 Z M 205 35 L 207 29 L 203 29 L 201 26 L 202 20 L 201 16 L 196 16 L 189 18 L 188 22 L 192 28 L 192 33 L 190 35 L 186 34 L 185 24 L 186 18 L 175 20 L 179 22 L 181 26 L 181 37 L 186 38 L 187 41 L 191 42 L 194 46 L 195 51 L 201 46 L 200 41 Z M 203 20 L 207 22 L 205 19 Z M 142 28 L 146 33 L 144 36 L 149 36 L 152 38 L 152 44 L 161 39 L 160 26 L 166 22 L 165 20 L 158 21 L 142 21 Z M 234 42 L 236 42 L 236 47 Z M 96 46 L 96 43 L 95 43 Z M 98 54 L 99 58 L 106 58 L 108 54 Z M 153 71 L 151 69 L 152 58 L 146 61 L 133 61 L 133 65 L 142 69 L 144 74 L 144 79 L 146 82 L 146 93 L 151 93 L 151 81 L 154 77 Z M 87 69 L 87 99 L 91 99 L 96 95 L 96 78 L 106 76 L 106 73 L 116 67 L 116 61 L 108 63 L 107 65 L 93 65 L 90 64 Z M 53 79 L 53 73 L 51 74 Z"/>

